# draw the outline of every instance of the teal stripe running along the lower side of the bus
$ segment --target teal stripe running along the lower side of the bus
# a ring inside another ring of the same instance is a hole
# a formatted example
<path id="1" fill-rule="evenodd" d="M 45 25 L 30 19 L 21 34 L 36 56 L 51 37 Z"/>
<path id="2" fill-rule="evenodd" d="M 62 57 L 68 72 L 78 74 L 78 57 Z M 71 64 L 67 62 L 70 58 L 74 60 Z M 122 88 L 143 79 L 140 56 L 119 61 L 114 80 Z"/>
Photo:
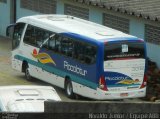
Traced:
<path id="1" fill-rule="evenodd" d="M 70 76 L 72 81 L 74 81 L 76 83 L 79 83 L 79 84 L 82 84 L 82 85 L 85 85 L 87 87 L 90 87 L 92 89 L 96 89 L 98 87 L 98 84 L 96 84 L 96 83 L 90 82 L 90 81 L 88 81 L 86 79 L 80 78 L 80 77 L 78 77 L 76 75 L 67 73 L 65 71 L 56 69 L 56 68 L 54 68 L 52 66 L 44 65 L 44 64 L 42 64 L 40 62 L 33 61 L 33 60 L 28 59 L 26 57 L 23 57 L 23 56 L 20 56 L 20 55 L 15 55 L 14 58 L 18 59 L 18 60 L 21 60 L 21 61 L 27 61 L 29 64 L 32 64 L 32 65 L 37 66 L 39 68 L 42 68 L 43 70 L 45 70 L 47 72 L 54 73 L 54 74 L 56 74 L 58 76 L 61 76 L 61 77 Z"/>

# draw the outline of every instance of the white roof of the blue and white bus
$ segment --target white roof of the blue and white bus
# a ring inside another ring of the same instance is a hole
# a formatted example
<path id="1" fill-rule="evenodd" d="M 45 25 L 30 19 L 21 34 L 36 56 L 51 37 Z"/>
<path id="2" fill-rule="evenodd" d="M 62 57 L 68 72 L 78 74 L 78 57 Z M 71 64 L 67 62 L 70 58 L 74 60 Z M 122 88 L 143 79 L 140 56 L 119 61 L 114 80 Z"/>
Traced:
<path id="1" fill-rule="evenodd" d="M 28 23 L 57 33 L 87 37 L 97 42 L 138 40 L 135 36 L 69 15 L 33 15 L 22 17 L 17 22 Z"/>

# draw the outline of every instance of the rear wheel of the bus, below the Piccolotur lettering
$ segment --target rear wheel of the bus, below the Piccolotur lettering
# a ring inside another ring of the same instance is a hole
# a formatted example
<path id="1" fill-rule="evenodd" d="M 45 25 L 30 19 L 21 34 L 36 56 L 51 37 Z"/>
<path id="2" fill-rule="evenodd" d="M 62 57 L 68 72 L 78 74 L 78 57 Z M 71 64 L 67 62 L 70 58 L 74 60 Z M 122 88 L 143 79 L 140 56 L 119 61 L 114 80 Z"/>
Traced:
<path id="1" fill-rule="evenodd" d="M 66 93 L 67 97 L 69 97 L 71 99 L 75 98 L 75 94 L 73 92 L 72 82 L 70 80 L 65 81 L 65 93 Z"/>

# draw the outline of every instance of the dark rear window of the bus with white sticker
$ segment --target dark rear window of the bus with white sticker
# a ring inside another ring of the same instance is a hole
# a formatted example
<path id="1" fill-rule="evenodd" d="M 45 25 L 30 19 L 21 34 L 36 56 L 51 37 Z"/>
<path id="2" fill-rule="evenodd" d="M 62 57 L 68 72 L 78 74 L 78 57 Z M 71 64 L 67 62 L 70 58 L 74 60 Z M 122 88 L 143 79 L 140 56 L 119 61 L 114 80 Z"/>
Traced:
<path id="1" fill-rule="evenodd" d="M 118 42 L 105 45 L 104 61 L 137 58 L 145 58 L 143 42 Z"/>

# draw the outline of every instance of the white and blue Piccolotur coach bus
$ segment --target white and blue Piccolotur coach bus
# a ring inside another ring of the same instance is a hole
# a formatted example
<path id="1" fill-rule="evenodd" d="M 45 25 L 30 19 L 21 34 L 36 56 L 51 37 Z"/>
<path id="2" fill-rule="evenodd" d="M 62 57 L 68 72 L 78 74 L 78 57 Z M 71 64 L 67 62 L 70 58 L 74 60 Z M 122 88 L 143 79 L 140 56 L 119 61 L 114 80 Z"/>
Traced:
<path id="1" fill-rule="evenodd" d="M 69 15 L 22 17 L 7 27 L 12 67 L 96 100 L 144 97 L 146 44 L 121 31 Z"/>

